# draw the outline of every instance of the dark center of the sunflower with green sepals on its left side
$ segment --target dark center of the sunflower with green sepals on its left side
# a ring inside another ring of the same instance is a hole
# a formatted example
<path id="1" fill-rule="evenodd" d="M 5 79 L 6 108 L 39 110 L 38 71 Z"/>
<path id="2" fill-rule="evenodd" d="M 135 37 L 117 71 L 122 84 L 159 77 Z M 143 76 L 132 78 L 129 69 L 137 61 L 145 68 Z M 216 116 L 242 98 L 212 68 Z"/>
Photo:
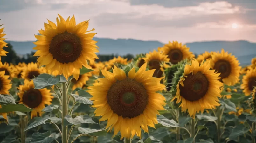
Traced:
<path id="1" fill-rule="evenodd" d="M 189 101 L 196 101 L 203 98 L 207 91 L 209 82 L 201 72 L 190 73 L 183 81 L 184 87 L 179 85 L 180 95 Z"/>

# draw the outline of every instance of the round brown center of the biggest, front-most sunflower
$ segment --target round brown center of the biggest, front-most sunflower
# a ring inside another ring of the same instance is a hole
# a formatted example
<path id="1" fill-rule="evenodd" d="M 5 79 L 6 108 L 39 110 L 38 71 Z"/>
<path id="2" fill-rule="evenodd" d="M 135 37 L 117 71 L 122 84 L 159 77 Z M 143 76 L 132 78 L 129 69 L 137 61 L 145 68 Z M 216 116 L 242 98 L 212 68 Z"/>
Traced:
<path id="1" fill-rule="evenodd" d="M 107 103 L 119 116 L 133 118 L 143 113 L 148 104 L 147 90 L 131 79 L 114 83 L 107 92 Z"/>

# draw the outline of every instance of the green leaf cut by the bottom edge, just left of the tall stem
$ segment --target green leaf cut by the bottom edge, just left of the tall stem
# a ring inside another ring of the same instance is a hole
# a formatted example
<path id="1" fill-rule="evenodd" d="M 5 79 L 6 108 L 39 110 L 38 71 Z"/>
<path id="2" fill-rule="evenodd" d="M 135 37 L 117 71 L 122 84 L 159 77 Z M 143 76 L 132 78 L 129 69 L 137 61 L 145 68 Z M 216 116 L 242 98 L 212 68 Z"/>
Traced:
<path id="1" fill-rule="evenodd" d="M 32 134 L 30 143 L 50 143 L 53 140 L 55 140 L 55 138 L 51 137 L 51 132 L 48 131 L 43 134 L 41 134 L 41 133 Z"/>

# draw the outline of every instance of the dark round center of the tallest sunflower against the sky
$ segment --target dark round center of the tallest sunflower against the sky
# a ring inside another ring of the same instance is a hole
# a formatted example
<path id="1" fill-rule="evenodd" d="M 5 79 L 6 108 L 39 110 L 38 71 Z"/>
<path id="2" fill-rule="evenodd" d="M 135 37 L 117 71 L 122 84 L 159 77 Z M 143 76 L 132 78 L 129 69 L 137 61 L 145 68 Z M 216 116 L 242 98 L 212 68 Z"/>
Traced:
<path id="1" fill-rule="evenodd" d="M 77 35 L 65 31 L 52 38 L 49 52 L 60 63 L 74 62 L 82 53 L 81 40 Z"/>

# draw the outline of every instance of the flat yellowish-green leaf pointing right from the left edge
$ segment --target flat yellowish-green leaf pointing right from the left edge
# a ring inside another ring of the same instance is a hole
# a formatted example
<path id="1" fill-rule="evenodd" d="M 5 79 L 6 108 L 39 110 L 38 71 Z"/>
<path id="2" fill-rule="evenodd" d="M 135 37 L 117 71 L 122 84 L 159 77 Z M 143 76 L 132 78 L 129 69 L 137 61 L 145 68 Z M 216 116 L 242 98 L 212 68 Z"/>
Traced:
<path id="1" fill-rule="evenodd" d="M 2 108 L 0 108 L 0 113 L 7 113 L 7 112 L 13 112 L 13 111 L 30 112 L 34 110 L 25 106 L 24 104 L 5 104 L 1 106 Z"/>

